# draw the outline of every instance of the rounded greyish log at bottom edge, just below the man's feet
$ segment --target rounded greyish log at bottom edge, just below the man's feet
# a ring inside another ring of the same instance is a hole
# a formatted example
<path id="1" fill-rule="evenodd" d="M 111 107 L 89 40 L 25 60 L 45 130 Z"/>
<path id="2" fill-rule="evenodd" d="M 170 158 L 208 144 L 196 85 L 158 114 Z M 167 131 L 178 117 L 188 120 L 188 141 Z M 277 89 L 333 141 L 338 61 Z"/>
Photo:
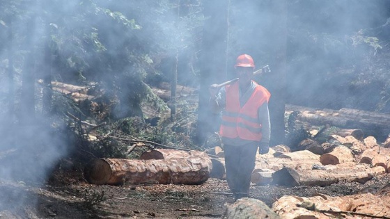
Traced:
<path id="1" fill-rule="evenodd" d="M 233 204 L 228 204 L 226 209 L 226 219 L 237 218 L 280 218 L 267 204 L 260 200 L 244 197 Z"/>

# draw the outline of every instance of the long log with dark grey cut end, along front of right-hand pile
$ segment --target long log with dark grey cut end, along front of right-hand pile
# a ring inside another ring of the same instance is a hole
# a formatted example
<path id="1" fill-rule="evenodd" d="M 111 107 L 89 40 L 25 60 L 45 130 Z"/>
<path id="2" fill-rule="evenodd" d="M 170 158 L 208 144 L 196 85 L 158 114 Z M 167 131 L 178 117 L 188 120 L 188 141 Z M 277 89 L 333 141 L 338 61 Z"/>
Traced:
<path id="1" fill-rule="evenodd" d="M 358 164 L 352 167 L 325 168 L 325 170 L 293 170 L 283 168 L 275 171 L 272 182 L 281 186 L 329 186 L 338 181 L 357 181 L 364 183 L 375 175 L 386 172 L 383 167 L 370 168 L 366 164 Z"/>

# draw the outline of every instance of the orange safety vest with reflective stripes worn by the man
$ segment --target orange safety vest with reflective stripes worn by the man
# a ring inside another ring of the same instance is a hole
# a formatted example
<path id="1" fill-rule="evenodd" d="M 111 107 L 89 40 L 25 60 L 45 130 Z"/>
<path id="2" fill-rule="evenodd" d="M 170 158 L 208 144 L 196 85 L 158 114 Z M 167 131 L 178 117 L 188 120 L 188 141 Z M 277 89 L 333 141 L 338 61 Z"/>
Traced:
<path id="1" fill-rule="evenodd" d="M 239 83 L 233 83 L 225 87 L 226 106 L 222 114 L 219 134 L 226 138 L 240 137 L 245 140 L 261 140 L 261 124 L 258 122 L 258 108 L 268 102 L 271 97 L 270 92 L 263 86 L 258 85 L 247 103 L 240 106 L 238 97 Z"/>

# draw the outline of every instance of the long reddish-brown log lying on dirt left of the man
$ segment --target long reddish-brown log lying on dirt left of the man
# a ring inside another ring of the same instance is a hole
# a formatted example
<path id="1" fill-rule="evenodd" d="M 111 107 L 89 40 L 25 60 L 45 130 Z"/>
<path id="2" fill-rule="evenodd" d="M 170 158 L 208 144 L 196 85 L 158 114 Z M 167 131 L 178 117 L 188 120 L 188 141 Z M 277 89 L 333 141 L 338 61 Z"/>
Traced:
<path id="1" fill-rule="evenodd" d="M 95 159 L 84 170 L 91 184 L 203 184 L 212 170 L 209 156 L 169 160 Z"/>

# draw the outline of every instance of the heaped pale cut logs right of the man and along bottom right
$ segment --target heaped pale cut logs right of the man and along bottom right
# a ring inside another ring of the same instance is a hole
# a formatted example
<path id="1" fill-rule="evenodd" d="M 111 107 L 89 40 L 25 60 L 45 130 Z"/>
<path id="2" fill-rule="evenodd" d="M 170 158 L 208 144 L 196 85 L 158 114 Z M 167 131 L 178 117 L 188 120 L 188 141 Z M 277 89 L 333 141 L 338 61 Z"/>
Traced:
<path id="1" fill-rule="evenodd" d="M 298 145 L 300 150 L 295 152 L 286 145 L 277 145 L 271 147 L 268 154 L 256 155 L 251 181 L 258 185 L 281 186 L 329 186 L 341 181 L 364 183 L 390 171 L 389 147 L 390 138 L 379 145 L 373 136 L 359 140 L 351 135 L 331 135 L 327 143 L 322 144 L 311 139 L 302 140 Z M 213 164 L 223 165 L 224 152 L 221 148 L 215 147 L 210 151 L 219 156 L 219 159 L 212 159 Z M 213 175 L 224 177 L 222 173 Z M 228 205 L 225 218 L 235 218 L 237 212 L 241 215 L 257 212 L 267 218 L 278 218 L 273 216 L 273 212 L 281 218 L 354 218 L 359 215 L 386 218 L 390 215 L 388 187 L 343 197 L 286 195 L 274 202 L 272 209 L 265 209 L 267 206 L 258 200 L 246 198 Z M 265 210 L 258 211 L 258 208 Z"/>

